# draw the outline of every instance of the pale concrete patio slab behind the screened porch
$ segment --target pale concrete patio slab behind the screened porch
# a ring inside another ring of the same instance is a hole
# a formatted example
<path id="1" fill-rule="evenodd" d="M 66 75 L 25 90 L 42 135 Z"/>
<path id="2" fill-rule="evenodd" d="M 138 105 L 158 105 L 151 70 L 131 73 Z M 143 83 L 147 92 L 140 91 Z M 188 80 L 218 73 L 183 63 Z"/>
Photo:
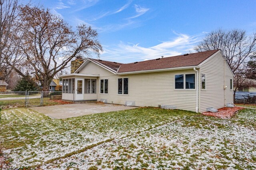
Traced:
<path id="1" fill-rule="evenodd" d="M 30 109 L 43 113 L 53 119 L 66 119 L 69 117 L 78 117 L 82 115 L 90 115 L 95 113 L 106 113 L 110 111 L 120 111 L 135 109 L 138 107 L 130 107 L 113 104 L 65 104 L 56 106 L 30 107 Z"/>

